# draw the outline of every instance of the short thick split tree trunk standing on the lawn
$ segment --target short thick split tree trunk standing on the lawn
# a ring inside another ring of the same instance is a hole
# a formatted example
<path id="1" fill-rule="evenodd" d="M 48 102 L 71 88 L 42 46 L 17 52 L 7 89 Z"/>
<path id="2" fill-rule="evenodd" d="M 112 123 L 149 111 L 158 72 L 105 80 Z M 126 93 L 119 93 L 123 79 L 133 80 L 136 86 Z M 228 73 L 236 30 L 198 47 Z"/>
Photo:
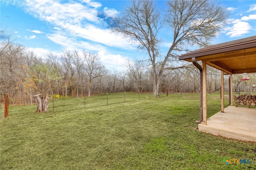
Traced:
<path id="1" fill-rule="evenodd" d="M 34 99 L 36 101 L 37 109 L 36 112 L 47 112 L 49 105 L 49 95 L 42 96 L 42 94 L 34 95 Z"/>

